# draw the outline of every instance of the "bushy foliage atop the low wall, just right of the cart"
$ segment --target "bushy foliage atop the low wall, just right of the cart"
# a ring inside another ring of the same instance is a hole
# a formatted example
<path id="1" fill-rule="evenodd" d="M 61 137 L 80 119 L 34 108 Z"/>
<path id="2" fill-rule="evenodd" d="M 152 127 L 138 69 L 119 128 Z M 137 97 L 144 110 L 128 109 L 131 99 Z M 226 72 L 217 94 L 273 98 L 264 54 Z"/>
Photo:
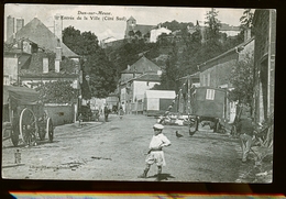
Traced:
<path id="1" fill-rule="evenodd" d="M 40 82 L 36 90 L 44 103 L 70 103 L 77 99 L 78 92 L 72 87 L 72 81 Z"/>

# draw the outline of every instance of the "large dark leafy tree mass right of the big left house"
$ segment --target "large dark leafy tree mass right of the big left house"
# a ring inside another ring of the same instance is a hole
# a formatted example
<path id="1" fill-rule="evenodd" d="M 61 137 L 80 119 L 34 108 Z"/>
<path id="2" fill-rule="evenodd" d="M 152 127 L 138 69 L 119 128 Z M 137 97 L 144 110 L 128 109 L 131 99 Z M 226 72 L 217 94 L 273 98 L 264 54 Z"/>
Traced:
<path id="1" fill-rule="evenodd" d="M 109 62 L 98 44 L 97 36 L 91 32 L 82 32 L 73 26 L 63 31 L 63 42 L 75 53 L 82 56 L 80 62 L 84 78 L 81 93 L 84 99 L 91 97 L 105 98 L 114 91 L 117 82 L 116 66 Z M 89 75 L 90 82 L 85 79 Z"/>

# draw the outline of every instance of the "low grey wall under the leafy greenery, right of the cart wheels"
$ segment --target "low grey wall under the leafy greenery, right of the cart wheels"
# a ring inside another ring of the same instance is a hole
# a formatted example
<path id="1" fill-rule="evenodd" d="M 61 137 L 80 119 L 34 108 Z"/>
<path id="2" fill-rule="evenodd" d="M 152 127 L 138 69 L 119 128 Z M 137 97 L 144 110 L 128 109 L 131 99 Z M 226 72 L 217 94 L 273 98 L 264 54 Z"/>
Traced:
<path id="1" fill-rule="evenodd" d="M 74 122 L 74 104 L 45 104 L 44 109 L 54 126 Z"/>

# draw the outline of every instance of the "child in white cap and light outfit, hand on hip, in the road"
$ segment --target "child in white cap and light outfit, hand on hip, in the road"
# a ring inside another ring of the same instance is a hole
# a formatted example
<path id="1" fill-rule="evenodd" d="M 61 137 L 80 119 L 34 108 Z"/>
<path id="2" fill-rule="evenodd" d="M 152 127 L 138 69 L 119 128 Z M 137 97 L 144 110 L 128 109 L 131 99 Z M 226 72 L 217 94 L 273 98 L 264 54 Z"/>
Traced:
<path id="1" fill-rule="evenodd" d="M 148 145 L 150 151 L 145 159 L 146 167 L 139 178 L 146 178 L 151 165 L 155 163 L 157 165 L 156 180 L 161 180 L 162 166 L 166 166 L 164 152 L 162 148 L 170 145 L 169 140 L 162 133 L 163 129 L 164 126 L 162 124 L 155 124 L 153 126 L 154 135 Z"/>

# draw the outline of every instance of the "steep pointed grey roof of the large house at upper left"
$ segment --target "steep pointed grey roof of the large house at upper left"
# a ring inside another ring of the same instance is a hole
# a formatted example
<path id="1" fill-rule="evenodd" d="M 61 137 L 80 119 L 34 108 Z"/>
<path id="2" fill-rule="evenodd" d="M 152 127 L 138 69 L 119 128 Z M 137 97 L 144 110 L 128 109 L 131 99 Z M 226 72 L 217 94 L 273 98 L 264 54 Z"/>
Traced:
<path id="1" fill-rule="evenodd" d="M 34 18 L 25 26 L 15 33 L 15 40 L 28 38 L 38 45 L 41 48 L 46 48 L 55 52 L 58 37 L 55 36 L 37 18 Z M 13 43 L 13 36 L 8 38 L 8 43 Z M 70 51 L 64 43 L 61 43 L 63 56 L 79 57 Z"/>

